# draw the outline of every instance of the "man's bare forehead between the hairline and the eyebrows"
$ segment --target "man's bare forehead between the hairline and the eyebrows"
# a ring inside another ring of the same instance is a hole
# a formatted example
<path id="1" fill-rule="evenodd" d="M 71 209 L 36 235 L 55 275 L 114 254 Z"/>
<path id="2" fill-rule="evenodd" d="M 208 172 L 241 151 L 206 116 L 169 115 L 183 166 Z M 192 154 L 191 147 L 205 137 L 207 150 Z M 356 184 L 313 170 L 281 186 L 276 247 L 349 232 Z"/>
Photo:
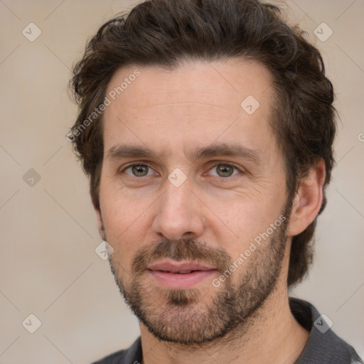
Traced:
<path id="1" fill-rule="evenodd" d="M 186 61 L 173 70 L 128 66 L 107 87 L 104 143 L 121 138 L 161 148 L 254 139 L 267 144 L 272 109 L 272 75 L 257 62 Z M 271 136 L 270 136 L 271 137 Z M 139 140 L 138 140 L 139 139 Z M 125 142 L 125 140 L 123 140 Z M 254 143 L 253 143 L 254 144 Z"/>

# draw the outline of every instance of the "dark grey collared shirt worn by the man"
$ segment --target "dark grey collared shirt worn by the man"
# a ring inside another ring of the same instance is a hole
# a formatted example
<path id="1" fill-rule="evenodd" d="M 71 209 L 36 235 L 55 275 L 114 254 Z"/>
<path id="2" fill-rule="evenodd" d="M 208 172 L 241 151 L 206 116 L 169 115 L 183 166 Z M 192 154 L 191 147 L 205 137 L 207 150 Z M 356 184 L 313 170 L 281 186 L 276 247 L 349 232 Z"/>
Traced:
<path id="1" fill-rule="evenodd" d="M 310 331 L 309 340 L 296 364 L 363 364 L 354 348 L 336 336 L 330 321 L 320 315 L 313 305 L 301 299 L 289 299 L 296 320 Z M 107 356 L 93 364 L 140 364 L 142 358 L 140 336 L 126 350 Z"/>

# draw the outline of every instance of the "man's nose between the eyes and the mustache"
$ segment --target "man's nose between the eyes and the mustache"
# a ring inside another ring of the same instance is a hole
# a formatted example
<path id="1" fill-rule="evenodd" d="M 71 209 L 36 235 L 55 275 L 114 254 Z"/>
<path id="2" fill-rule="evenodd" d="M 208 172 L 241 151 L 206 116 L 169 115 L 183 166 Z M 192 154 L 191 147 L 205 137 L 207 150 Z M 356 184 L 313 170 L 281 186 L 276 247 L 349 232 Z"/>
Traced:
<path id="1" fill-rule="evenodd" d="M 196 239 L 204 229 L 200 204 L 187 181 L 176 187 L 167 180 L 164 193 L 156 206 L 158 212 L 152 225 L 154 233 L 168 240 L 187 237 Z"/>

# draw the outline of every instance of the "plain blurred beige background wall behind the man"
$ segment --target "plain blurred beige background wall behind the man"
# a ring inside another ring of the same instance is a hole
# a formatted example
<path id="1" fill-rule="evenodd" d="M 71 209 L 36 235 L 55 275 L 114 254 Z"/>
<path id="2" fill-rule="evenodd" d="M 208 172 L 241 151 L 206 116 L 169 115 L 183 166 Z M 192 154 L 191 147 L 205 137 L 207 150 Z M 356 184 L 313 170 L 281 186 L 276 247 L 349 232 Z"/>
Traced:
<path id="1" fill-rule="evenodd" d="M 104 21 L 136 2 L 0 0 L 0 363 L 90 363 L 139 335 L 95 254 L 87 180 L 65 140 L 75 119 L 71 66 Z M 364 356 L 364 1 L 287 4 L 323 52 L 342 121 L 315 264 L 292 295 L 314 303 Z M 34 42 L 22 34 L 31 22 L 42 32 Z M 314 35 L 322 22 L 333 31 L 324 42 Z M 30 168 L 41 177 L 34 186 L 23 181 Z M 29 314 L 42 323 L 33 334 L 22 326 Z"/>

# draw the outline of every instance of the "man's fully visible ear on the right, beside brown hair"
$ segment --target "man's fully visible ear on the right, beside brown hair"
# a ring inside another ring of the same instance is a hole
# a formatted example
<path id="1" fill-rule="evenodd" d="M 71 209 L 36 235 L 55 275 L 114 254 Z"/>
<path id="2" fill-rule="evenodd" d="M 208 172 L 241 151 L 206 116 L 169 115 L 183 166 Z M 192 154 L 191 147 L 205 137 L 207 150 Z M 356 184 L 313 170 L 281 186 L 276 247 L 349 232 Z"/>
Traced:
<path id="1" fill-rule="evenodd" d="M 323 183 L 325 182 L 325 161 L 319 161 L 310 168 L 308 175 L 301 180 L 294 197 L 291 218 L 287 235 L 299 235 L 319 214 L 323 199 Z"/>

